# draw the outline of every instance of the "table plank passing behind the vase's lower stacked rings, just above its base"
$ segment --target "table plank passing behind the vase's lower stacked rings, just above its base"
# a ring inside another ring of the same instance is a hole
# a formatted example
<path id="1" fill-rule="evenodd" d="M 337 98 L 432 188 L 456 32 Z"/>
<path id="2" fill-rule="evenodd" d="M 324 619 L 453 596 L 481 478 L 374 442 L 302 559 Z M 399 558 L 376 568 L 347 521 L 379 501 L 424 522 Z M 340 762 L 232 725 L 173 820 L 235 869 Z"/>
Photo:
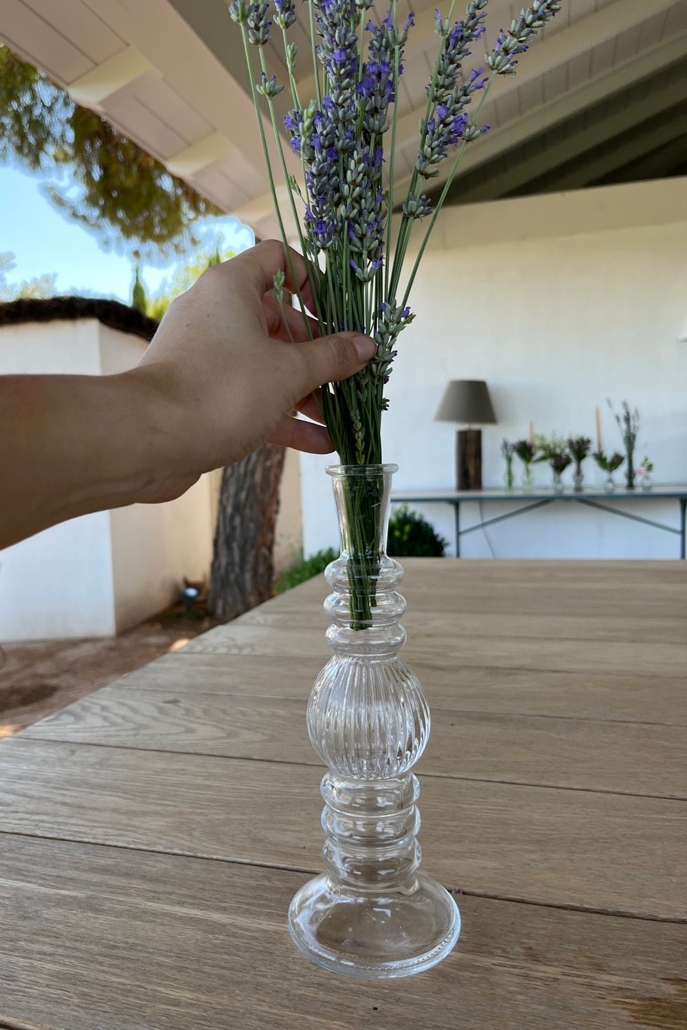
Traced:
<path id="1" fill-rule="evenodd" d="M 0 745 L 0 776 L 5 832 L 320 869 L 314 767 L 18 736 Z M 422 786 L 423 868 L 448 888 L 687 919 L 684 802 L 434 777 Z"/>

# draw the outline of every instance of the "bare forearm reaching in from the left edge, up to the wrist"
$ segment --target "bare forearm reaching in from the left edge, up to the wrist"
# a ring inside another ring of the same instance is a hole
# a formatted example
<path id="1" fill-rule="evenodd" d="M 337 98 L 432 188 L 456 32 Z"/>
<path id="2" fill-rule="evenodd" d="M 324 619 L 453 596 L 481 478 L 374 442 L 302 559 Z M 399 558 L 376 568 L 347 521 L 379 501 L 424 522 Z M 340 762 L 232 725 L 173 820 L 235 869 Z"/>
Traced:
<path id="1" fill-rule="evenodd" d="M 139 370 L 0 377 L 0 547 L 88 512 L 158 500 L 173 446 Z"/>

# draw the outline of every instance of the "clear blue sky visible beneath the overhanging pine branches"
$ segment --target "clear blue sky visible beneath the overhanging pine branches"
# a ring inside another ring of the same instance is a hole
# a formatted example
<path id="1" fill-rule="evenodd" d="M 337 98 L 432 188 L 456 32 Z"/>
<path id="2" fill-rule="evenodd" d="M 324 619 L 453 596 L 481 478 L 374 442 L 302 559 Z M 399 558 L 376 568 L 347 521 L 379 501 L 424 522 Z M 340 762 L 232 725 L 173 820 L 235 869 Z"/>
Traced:
<path id="1" fill-rule="evenodd" d="M 129 303 L 132 259 L 104 250 L 95 236 L 56 211 L 42 196 L 40 183 L 36 176 L 0 167 L 0 253 L 12 251 L 15 262 L 7 280 L 19 282 L 56 272 L 60 294 L 87 291 Z M 253 242 L 252 232 L 235 218 L 221 219 L 217 228 L 225 248 L 243 250 Z M 154 291 L 174 267 L 144 265 L 146 290 Z"/>

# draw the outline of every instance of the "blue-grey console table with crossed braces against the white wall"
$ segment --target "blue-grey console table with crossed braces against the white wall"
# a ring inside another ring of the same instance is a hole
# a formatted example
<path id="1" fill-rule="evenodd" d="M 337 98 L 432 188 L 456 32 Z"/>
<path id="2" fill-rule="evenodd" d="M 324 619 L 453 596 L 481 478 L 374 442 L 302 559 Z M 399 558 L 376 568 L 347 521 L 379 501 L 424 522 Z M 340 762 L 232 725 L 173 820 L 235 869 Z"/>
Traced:
<path id="1" fill-rule="evenodd" d="M 675 500 L 678 502 L 680 507 L 680 528 L 676 528 L 673 525 L 666 525 L 664 522 L 656 522 L 655 519 L 646 518 L 644 515 L 638 515 L 634 512 L 623 511 L 620 508 L 612 507 L 612 502 L 614 501 L 664 501 L 664 500 Z M 513 504 L 514 502 L 519 505 L 515 511 L 506 512 L 504 515 L 495 515 L 493 518 L 482 519 L 480 522 L 475 523 L 475 525 L 469 525 L 466 528 L 460 528 L 460 504 L 463 502 L 479 502 L 479 503 L 501 503 L 501 504 Z M 524 512 L 534 511 L 536 508 L 543 508 L 545 505 L 552 504 L 578 504 L 586 505 L 588 508 L 597 508 L 599 511 L 608 512 L 611 515 L 617 515 L 620 518 L 630 519 L 632 522 L 643 522 L 645 525 L 653 526 L 655 529 L 662 529 L 664 533 L 674 533 L 676 536 L 680 537 L 680 557 L 685 559 L 685 512 L 687 510 L 687 484 L 685 483 L 668 483 L 660 486 L 652 486 L 650 490 L 627 490 L 624 487 L 616 489 L 609 493 L 603 488 L 590 487 L 588 489 L 583 489 L 579 492 L 575 492 L 572 488 L 563 490 L 562 493 L 557 493 L 552 487 L 548 488 L 537 488 L 529 492 L 523 492 L 521 489 L 514 490 L 403 490 L 398 493 L 391 494 L 392 504 L 442 504 L 442 505 L 452 505 L 454 516 L 455 516 L 455 556 L 460 557 L 460 538 L 467 536 L 469 533 L 475 533 L 477 529 L 483 529 L 489 525 L 495 525 L 496 522 L 504 522 L 509 518 L 516 518 L 518 515 L 524 514 Z"/>

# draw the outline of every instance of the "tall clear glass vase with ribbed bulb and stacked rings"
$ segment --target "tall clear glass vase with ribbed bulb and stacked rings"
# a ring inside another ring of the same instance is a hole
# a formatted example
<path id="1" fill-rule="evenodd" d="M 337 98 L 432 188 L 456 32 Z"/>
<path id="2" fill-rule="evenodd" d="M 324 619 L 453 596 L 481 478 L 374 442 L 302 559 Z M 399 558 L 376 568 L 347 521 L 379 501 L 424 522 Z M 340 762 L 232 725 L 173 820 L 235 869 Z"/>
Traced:
<path id="1" fill-rule="evenodd" d="M 328 469 L 341 537 L 341 555 L 325 572 L 334 655 L 307 714 L 310 741 L 328 766 L 325 872 L 305 884 L 288 909 L 290 934 L 309 959 L 367 980 L 428 969 L 460 932 L 452 896 L 418 869 L 419 784 L 411 770 L 427 743 L 430 710 L 399 655 L 403 570 L 385 553 L 396 471 Z"/>

